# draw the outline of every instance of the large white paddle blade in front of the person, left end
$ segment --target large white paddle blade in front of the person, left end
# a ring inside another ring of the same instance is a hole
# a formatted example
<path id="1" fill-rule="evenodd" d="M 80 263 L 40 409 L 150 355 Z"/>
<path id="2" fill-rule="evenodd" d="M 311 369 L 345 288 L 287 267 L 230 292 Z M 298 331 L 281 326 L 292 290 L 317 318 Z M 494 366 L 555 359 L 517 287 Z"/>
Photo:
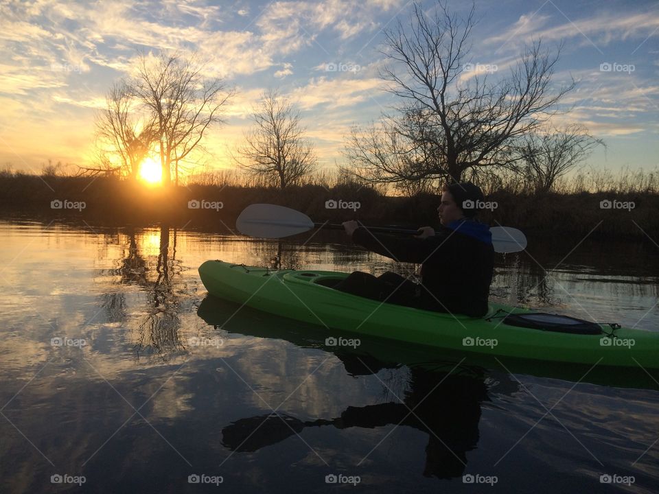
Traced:
<path id="1" fill-rule="evenodd" d="M 314 222 L 307 215 L 284 206 L 251 204 L 235 220 L 235 228 L 250 237 L 281 238 L 310 231 Z"/>

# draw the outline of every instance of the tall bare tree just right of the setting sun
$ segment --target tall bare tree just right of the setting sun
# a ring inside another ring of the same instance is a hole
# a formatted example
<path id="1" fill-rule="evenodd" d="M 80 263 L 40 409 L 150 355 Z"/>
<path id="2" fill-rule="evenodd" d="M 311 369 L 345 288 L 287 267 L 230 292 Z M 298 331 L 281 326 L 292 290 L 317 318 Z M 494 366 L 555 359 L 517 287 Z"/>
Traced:
<path id="1" fill-rule="evenodd" d="M 194 58 L 161 55 L 153 60 L 143 54 L 131 83 L 132 94 L 153 121 L 165 184 L 173 169 L 178 185 L 179 165 L 211 126 L 222 123 L 222 106 L 234 95 L 221 80 L 205 79 L 203 69 Z"/>

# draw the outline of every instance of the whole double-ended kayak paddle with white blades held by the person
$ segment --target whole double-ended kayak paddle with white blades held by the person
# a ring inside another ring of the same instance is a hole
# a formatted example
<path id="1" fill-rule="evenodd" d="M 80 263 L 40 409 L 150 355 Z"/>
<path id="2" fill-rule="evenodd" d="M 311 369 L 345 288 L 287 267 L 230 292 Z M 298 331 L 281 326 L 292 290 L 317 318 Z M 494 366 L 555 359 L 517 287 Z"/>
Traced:
<path id="1" fill-rule="evenodd" d="M 251 204 L 238 216 L 235 227 L 244 235 L 250 237 L 281 238 L 289 237 L 310 231 L 316 226 L 323 228 L 341 229 L 341 224 L 314 223 L 310 217 L 284 206 L 276 204 Z M 403 228 L 388 228 L 386 226 L 365 226 L 376 233 L 404 233 L 417 235 L 416 230 Z M 492 244 L 495 252 L 520 252 L 527 248 L 527 237 L 517 228 L 508 226 L 494 226 L 489 229 L 492 233 Z"/>

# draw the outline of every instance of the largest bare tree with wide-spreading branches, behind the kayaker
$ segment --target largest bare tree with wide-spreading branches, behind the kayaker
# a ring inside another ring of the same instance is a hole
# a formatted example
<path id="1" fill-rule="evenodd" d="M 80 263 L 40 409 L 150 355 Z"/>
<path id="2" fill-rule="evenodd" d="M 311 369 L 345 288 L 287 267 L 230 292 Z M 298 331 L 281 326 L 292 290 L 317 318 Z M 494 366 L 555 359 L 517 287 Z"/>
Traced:
<path id="1" fill-rule="evenodd" d="M 360 129 L 353 130 L 348 150 L 361 155 L 358 165 L 375 172 L 371 181 L 458 181 L 471 168 L 510 165 L 516 156 L 509 144 L 557 113 L 556 104 L 575 86 L 573 81 L 551 93 L 560 47 L 550 56 L 540 42 L 522 53 L 507 78 L 490 82 L 478 64 L 468 63 L 473 27 L 473 6 L 459 19 L 439 1 L 432 16 L 415 3 L 408 26 L 398 23 L 385 32 L 382 53 L 389 64 L 380 77 L 402 101 L 397 115 L 383 118 L 388 132 L 397 134 L 395 156 L 373 159 L 373 134 Z"/>

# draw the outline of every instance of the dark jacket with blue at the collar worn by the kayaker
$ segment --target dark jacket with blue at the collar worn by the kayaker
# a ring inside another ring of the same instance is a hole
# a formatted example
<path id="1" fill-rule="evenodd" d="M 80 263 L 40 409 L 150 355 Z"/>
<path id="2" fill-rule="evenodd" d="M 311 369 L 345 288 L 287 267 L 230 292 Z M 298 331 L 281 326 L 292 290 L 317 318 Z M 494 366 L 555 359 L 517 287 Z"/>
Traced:
<path id="1" fill-rule="evenodd" d="M 441 226 L 426 239 L 373 235 L 357 228 L 357 244 L 395 261 L 420 263 L 417 307 L 467 316 L 487 313 L 489 285 L 494 271 L 494 248 L 489 228 L 472 220 Z M 427 290 L 426 290 L 427 288 Z"/>

